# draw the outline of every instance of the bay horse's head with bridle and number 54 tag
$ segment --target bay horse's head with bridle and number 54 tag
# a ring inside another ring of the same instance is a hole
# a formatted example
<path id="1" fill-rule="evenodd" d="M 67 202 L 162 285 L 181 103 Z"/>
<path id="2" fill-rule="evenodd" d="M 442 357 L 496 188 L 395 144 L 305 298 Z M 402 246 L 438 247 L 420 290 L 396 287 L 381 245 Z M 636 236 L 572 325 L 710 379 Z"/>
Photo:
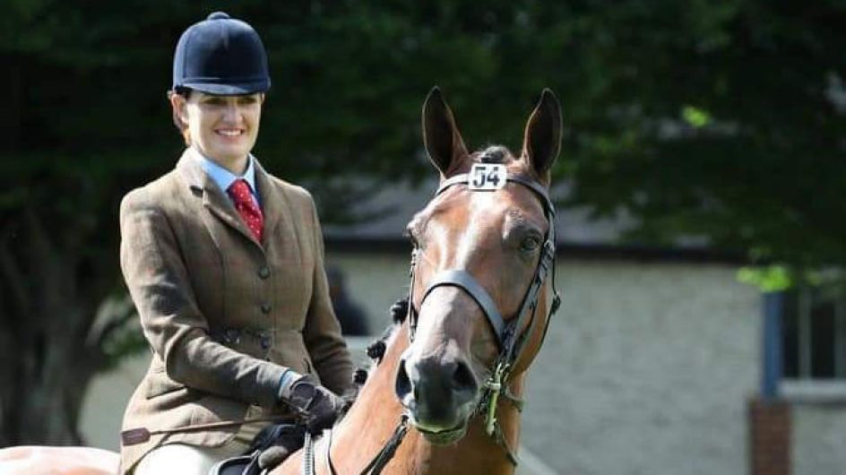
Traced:
<path id="1" fill-rule="evenodd" d="M 519 157 L 502 146 L 469 153 L 434 89 L 423 106 L 423 136 L 441 185 L 408 226 L 411 342 L 396 393 L 419 431 L 445 444 L 463 436 L 480 402 L 496 404 L 496 368 L 505 384 L 540 349 L 552 305 L 545 277 L 555 255 L 554 212 L 546 190 L 561 112 L 543 91 Z"/>

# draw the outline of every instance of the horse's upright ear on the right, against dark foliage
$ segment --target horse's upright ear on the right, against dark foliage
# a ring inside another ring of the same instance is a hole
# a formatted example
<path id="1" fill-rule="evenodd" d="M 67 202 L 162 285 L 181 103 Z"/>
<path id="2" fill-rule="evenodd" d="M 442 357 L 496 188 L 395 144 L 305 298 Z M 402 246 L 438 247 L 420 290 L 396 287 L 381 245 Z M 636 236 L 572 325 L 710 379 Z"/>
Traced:
<path id="1" fill-rule="evenodd" d="M 541 179 L 547 177 L 561 150 L 561 123 L 561 105 L 556 95 L 548 89 L 543 90 L 538 106 L 526 123 L 522 144 L 523 156 Z"/>

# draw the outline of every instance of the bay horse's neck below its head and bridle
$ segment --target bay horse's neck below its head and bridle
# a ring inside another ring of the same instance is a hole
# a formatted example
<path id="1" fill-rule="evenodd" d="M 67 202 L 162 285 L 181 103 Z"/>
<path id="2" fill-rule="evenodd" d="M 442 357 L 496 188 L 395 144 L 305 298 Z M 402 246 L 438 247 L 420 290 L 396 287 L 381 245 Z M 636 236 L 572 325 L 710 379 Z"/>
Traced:
<path id="1" fill-rule="evenodd" d="M 408 346 L 407 332 L 396 332 L 389 343 L 382 363 L 375 367 L 361 388 L 358 400 L 332 434 L 332 464 L 339 475 L 357 475 L 373 460 L 393 435 L 400 423 L 402 407 L 394 395 L 393 386 L 400 355 Z M 522 378 L 515 382 L 520 393 Z M 508 444 L 516 449 L 520 418 L 507 403 L 500 403 L 496 414 Z M 429 444 L 419 432 L 411 428 L 399 449 L 388 462 L 384 475 L 451 475 L 486 473 L 506 475 L 514 473 L 505 451 L 484 432 L 482 420 L 470 421 L 466 436 L 457 444 L 438 446 Z M 316 473 L 328 474 L 325 464 L 325 439 L 317 445 Z M 295 453 L 273 475 L 301 473 L 302 453 Z"/>

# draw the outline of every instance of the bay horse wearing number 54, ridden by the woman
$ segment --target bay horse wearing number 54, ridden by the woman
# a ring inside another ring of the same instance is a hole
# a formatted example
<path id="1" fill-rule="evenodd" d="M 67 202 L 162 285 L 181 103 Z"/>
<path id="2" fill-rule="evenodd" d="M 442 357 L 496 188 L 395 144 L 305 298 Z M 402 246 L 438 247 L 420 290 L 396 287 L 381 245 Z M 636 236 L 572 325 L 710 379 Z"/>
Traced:
<path id="1" fill-rule="evenodd" d="M 346 416 L 271 475 L 514 473 L 524 379 L 559 302 L 548 186 L 561 134 L 558 100 L 544 90 L 519 157 L 502 146 L 470 153 L 441 92 L 429 92 L 423 138 L 440 183 L 407 227 L 407 315 Z M 72 463 L 61 451 L 86 449 L 52 450 L 42 455 L 58 468 Z M 103 473 L 91 461 L 79 468 L 41 473 Z"/>

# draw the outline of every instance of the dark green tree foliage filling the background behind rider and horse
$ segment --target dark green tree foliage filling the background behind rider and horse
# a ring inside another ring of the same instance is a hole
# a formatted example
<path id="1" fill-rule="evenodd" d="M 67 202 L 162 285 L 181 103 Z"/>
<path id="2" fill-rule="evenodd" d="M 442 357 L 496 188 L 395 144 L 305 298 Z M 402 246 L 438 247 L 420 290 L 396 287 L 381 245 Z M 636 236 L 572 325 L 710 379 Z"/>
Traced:
<path id="1" fill-rule="evenodd" d="M 550 87 L 565 108 L 555 173 L 574 184 L 567 204 L 631 213 L 629 238 L 645 244 L 693 236 L 775 262 L 846 263 L 842 2 L 9 0 L 0 445 L 76 438 L 88 379 L 135 345 L 121 337 L 131 312 L 102 305 L 122 292 L 117 207 L 173 167 L 173 48 L 217 9 L 269 49 L 256 155 L 312 184 L 324 219 L 341 218 L 347 177 L 430 172 L 419 108 L 432 85 L 470 147 L 513 150 Z"/>

